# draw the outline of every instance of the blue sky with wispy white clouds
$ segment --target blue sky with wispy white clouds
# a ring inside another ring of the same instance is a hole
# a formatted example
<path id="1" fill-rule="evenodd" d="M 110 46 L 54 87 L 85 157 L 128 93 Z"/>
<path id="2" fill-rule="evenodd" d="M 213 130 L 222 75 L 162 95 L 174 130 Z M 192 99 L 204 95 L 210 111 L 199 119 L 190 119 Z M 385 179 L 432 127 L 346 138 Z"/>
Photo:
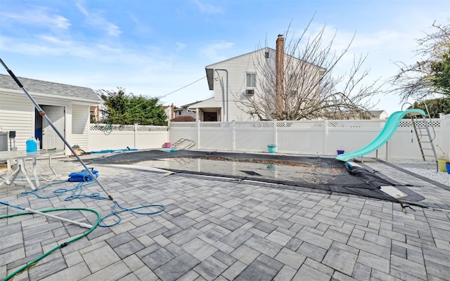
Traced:
<path id="1" fill-rule="evenodd" d="M 179 107 L 212 98 L 207 65 L 275 48 L 288 27 L 293 38 L 310 21 L 310 34 L 326 27 L 334 51 L 354 36 L 337 71 L 367 55 L 371 84 L 397 74 L 395 62 L 420 60 L 417 39 L 449 18 L 449 0 L 0 0 L 0 58 L 18 77 L 121 87 Z M 372 103 L 388 114 L 402 109 L 392 94 Z"/>

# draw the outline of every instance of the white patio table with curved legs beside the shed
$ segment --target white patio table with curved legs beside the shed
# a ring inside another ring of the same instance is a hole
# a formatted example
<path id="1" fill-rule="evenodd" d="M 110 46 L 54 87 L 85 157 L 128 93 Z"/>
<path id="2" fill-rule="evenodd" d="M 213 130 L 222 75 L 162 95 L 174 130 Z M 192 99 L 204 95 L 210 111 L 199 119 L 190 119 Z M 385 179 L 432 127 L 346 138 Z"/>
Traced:
<path id="1" fill-rule="evenodd" d="M 32 190 L 39 188 L 39 176 L 37 174 L 36 159 L 49 158 L 49 167 L 53 172 L 53 175 L 56 177 L 56 173 L 51 166 L 51 157 L 54 155 L 62 154 L 63 152 L 64 150 L 37 150 L 34 152 L 27 152 L 25 150 L 0 151 L 0 161 L 7 161 L 8 163 L 7 176 L 3 181 L 1 181 L 0 185 L 3 185 L 4 183 L 6 183 L 7 185 L 11 185 L 11 183 L 15 181 L 15 178 L 17 178 L 18 174 L 22 172 L 22 174 L 27 179 L 27 182 L 30 184 Z M 32 159 L 33 162 L 32 174 L 34 176 L 34 184 L 25 166 L 26 159 Z M 12 171 L 10 168 L 11 162 L 15 162 L 13 163 L 14 167 Z M 53 181 L 55 177 L 53 177 L 52 179 L 44 179 L 46 181 Z"/>

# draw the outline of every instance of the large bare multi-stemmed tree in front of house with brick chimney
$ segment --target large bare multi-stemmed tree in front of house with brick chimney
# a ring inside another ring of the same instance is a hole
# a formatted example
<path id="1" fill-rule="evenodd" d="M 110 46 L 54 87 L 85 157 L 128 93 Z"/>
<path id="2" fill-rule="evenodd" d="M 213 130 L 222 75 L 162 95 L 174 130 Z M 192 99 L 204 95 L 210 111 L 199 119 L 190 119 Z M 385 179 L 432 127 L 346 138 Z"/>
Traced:
<path id="1" fill-rule="evenodd" d="M 337 53 L 333 51 L 336 34 L 324 43 L 325 25 L 316 35 L 307 35 L 311 21 L 300 37 L 290 37 L 288 44 L 284 44 L 284 38 L 288 38 L 289 28 L 284 37 L 279 35 L 283 50 L 278 50 L 277 40 L 276 56 L 257 56 L 255 68 L 262 74 L 262 79 L 258 79 L 258 96 L 240 99 L 241 110 L 258 119 L 370 117 L 370 110 L 375 106 L 371 98 L 380 93 L 382 85 L 378 85 L 379 79 L 363 84 L 369 74 L 362 68 L 366 56 L 355 56 L 348 73 L 333 75 L 354 37 Z M 281 52 L 283 59 L 279 58 Z"/>

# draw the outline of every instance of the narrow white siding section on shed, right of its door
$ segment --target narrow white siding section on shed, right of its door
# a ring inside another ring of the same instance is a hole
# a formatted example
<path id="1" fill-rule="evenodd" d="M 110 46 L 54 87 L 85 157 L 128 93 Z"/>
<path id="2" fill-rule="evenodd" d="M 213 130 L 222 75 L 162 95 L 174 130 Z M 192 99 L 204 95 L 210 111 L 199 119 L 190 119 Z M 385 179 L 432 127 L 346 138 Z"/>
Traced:
<path id="1" fill-rule="evenodd" d="M 72 106 L 72 142 L 70 145 L 78 145 L 87 151 L 89 129 L 89 107 L 84 105 Z"/>

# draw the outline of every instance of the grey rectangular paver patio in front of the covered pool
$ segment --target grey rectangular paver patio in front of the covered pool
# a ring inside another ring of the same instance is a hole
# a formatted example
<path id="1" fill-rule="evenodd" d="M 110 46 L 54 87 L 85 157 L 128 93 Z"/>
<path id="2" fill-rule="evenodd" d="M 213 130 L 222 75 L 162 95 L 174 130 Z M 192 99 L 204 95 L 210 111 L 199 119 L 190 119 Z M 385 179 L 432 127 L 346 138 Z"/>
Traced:
<path id="1" fill-rule="evenodd" d="M 67 160 L 53 160 L 63 181 L 81 169 Z M 117 225 L 97 227 L 14 280 L 450 280 L 450 191 L 394 166 L 365 165 L 399 183 L 420 182 L 411 188 L 429 207 L 96 165 L 122 207 L 163 204 L 165 211 L 124 211 Z M 26 181 L 1 185 L 0 200 L 35 210 L 90 208 L 101 216 L 113 207 L 110 200 L 39 199 L 24 191 L 30 191 Z M 106 196 L 96 184 L 84 188 L 92 192 Z M 0 216 L 18 212 L 0 205 Z M 95 223 L 86 211 L 56 214 Z M 39 215 L 1 219 L 0 277 L 85 231 Z"/>

